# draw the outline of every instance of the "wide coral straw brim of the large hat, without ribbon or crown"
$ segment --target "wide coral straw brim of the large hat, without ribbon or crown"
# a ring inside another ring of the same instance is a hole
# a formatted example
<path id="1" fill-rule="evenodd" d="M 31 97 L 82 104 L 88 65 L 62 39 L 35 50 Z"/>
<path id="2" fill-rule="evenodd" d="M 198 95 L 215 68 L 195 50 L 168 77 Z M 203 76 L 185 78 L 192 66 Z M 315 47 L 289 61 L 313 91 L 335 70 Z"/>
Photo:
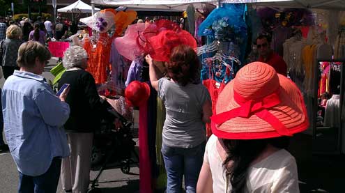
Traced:
<path id="1" fill-rule="evenodd" d="M 279 105 L 268 109 L 291 134 L 302 132 L 309 127 L 307 110 L 300 90 L 290 79 L 278 75 L 279 77 Z M 216 113 L 230 111 L 240 107 L 233 99 L 233 81 L 225 86 L 217 99 Z M 272 125 L 256 115 L 249 118 L 236 117 L 217 125 L 211 123 L 212 132 L 217 137 L 223 139 L 265 139 L 282 137 Z"/>

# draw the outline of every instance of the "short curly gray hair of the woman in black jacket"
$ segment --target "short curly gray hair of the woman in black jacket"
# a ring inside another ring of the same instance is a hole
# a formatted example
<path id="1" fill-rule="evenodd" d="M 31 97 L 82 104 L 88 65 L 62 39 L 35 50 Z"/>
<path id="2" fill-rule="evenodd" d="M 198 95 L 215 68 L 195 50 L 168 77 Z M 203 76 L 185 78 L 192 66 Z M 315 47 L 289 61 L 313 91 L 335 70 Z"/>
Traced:
<path id="1" fill-rule="evenodd" d="M 86 50 L 79 45 L 73 45 L 63 53 L 63 67 L 67 70 L 82 65 L 83 59 L 87 59 Z"/>

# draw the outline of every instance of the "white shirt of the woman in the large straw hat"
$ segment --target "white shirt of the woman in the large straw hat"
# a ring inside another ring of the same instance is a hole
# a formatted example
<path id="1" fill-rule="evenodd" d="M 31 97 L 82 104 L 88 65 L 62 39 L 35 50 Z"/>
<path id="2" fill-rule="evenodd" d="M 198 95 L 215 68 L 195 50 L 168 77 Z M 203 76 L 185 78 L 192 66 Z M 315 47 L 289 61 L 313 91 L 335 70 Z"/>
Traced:
<path id="1" fill-rule="evenodd" d="M 204 161 L 210 165 L 213 179 L 213 192 L 223 193 L 227 190 L 223 161 L 217 151 L 217 137 L 208 139 Z M 228 192 L 231 192 L 229 181 Z M 248 169 L 245 192 L 300 192 L 298 187 L 298 172 L 295 158 L 286 150 L 277 150 L 265 159 L 253 164 Z"/>

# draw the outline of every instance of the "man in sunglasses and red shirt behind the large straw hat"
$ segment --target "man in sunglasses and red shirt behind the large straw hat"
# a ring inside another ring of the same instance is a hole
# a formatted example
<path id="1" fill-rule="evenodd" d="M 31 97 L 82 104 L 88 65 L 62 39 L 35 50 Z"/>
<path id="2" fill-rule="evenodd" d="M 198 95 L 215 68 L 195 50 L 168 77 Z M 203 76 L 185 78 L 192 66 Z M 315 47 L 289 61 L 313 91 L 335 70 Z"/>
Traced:
<path id="1" fill-rule="evenodd" d="M 270 48 L 270 41 L 270 36 L 265 34 L 261 34 L 256 38 L 255 45 L 259 52 L 259 61 L 268 63 L 275 68 L 278 74 L 287 76 L 287 65 L 282 56 L 279 56 Z"/>

